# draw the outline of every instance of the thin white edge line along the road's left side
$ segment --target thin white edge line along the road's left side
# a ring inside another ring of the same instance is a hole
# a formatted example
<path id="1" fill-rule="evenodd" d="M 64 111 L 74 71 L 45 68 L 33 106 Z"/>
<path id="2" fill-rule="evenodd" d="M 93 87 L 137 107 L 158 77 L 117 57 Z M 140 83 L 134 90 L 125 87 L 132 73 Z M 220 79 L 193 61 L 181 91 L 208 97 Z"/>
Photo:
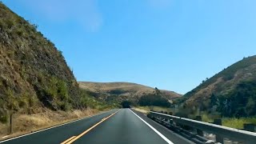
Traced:
<path id="1" fill-rule="evenodd" d="M 105 113 L 110 112 L 110 111 L 112 111 L 112 110 L 109 110 L 109 111 L 106 111 L 106 112 L 103 112 L 103 113 L 100 113 L 100 114 L 105 114 Z M 86 118 L 80 118 L 80 119 L 77 119 L 77 120 L 74 120 L 74 121 L 71 121 L 71 122 L 66 122 L 66 123 L 63 123 L 61 125 L 52 126 L 52 127 L 49 127 L 49 128 L 43 129 L 43 130 L 38 130 L 38 131 L 35 131 L 33 133 L 30 133 L 30 134 L 23 134 L 23 135 L 20 135 L 18 137 L 14 137 L 14 138 L 10 138 L 10 139 L 6 139 L 6 140 L 3 140 L 3 141 L 0 141 L 0 143 L 8 142 L 10 140 L 14 140 L 14 139 L 17 139 L 17 138 L 22 138 L 22 137 L 25 137 L 25 136 L 31 135 L 31 134 L 36 134 L 36 133 L 39 133 L 39 132 L 42 132 L 42 131 L 45 131 L 45 130 L 50 130 L 50 129 L 53 129 L 53 128 L 58 127 L 58 126 L 64 126 L 64 125 L 67 125 L 67 124 L 70 124 L 70 123 L 73 123 L 73 122 L 78 122 L 78 121 L 81 121 L 81 120 L 84 120 L 84 119 L 87 119 L 87 118 L 92 118 L 92 117 L 97 116 L 97 115 L 99 115 L 99 114 L 91 115 L 90 117 L 86 117 Z"/>

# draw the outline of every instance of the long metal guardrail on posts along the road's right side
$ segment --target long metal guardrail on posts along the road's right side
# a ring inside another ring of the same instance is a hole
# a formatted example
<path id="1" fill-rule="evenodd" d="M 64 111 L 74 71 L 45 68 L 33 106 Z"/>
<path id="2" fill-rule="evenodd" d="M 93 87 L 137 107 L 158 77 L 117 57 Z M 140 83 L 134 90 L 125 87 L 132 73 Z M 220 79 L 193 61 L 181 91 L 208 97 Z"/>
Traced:
<path id="1" fill-rule="evenodd" d="M 218 134 L 222 136 L 222 138 L 230 138 L 234 141 L 245 142 L 246 144 L 255 144 L 256 143 L 256 133 L 246 131 L 246 130 L 238 130 L 226 126 L 219 126 L 216 124 L 208 123 L 208 122 L 200 122 L 196 120 L 192 120 L 189 118 L 177 117 L 169 114 L 162 114 L 154 111 L 150 111 L 150 116 L 155 118 L 165 118 L 172 119 L 173 122 L 182 124 L 185 126 L 193 127 L 194 129 L 206 131 L 210 134 Z"/>

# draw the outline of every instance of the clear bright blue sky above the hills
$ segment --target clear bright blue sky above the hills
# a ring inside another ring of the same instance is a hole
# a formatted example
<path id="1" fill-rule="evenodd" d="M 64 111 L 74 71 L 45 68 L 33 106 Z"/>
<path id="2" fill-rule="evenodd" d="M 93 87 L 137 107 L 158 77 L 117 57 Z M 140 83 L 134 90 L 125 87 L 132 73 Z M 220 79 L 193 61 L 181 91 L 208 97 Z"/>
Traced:
<path id="1" fill-rule="evenodd" d="M 63 51 L 78 81 L 185 94 L 256 54 L 255 0 L 3 0 Z"/>

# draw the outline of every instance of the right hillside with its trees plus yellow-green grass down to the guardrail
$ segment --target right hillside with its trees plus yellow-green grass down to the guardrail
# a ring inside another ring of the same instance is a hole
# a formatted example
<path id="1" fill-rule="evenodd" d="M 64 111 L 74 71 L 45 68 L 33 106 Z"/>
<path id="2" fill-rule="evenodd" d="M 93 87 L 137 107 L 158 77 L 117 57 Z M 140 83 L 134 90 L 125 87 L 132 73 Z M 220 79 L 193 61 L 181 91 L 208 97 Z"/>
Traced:
<path id="1" fill-rule="evenodd" d="M 256 56 L 206 78 L 200 86 L 174 100 L 175 115 L 185 118 L 202 116 L 204 122 L 222 118 L 222 125 L 242 129 L 243 124 L 256 124 Z"/>

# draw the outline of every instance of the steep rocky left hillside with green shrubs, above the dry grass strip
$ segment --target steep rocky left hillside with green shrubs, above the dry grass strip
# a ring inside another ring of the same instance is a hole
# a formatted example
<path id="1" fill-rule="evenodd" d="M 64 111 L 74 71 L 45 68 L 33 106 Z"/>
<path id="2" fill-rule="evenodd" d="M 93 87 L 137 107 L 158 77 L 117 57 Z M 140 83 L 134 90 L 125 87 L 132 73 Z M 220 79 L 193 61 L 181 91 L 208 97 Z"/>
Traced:
<path id="1" fill-rule="evenodd" d="M 37 26 L 0 3 L 0 112 L 78 107 L 74 74 Z"/>

